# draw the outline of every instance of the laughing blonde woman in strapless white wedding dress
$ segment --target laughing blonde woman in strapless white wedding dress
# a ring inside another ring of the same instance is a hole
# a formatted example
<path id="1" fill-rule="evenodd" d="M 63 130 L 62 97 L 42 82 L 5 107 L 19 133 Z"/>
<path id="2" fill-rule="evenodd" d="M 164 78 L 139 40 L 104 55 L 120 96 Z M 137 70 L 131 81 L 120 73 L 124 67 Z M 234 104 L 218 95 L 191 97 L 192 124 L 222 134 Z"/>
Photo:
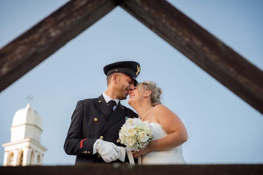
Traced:
<path id="1" fill-rule="evenodd" d="M 128 104 L 143 121 L 152 128 L 152 140 L 144 150 L 133 152 L 133 157 L 142 156 L 142 164 L 186 164 L 182 144 L 188 134 L 183 122 L 166 106 L 161 105 L 162 90 L 156 83 L 144 81 L 129 92 Z"/>

